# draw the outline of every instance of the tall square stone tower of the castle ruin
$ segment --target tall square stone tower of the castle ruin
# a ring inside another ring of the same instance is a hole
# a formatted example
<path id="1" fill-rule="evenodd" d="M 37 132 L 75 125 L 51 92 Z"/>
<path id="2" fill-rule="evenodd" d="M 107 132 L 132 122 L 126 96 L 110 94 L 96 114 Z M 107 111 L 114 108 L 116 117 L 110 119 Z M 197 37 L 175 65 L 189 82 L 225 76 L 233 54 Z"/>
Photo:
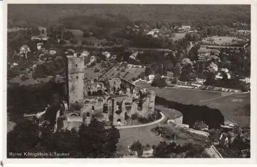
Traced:
<path id="1" fill-rule="evenodd" d="M 67 56 L 68 105 L 83 105 L 84 100 L 84 57 Z"/>

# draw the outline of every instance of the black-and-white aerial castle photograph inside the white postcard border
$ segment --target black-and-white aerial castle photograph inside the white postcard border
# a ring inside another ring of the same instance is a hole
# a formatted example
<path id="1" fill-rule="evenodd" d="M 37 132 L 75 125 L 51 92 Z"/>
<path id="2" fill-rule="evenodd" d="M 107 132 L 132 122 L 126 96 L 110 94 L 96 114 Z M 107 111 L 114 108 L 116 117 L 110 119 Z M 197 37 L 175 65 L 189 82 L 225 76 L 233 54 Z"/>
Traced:
<path id="1" fill-rule="evenodd" d="M 8 4 L 6 19 L 7 159 L 253 158 L 250 4 Z"/>

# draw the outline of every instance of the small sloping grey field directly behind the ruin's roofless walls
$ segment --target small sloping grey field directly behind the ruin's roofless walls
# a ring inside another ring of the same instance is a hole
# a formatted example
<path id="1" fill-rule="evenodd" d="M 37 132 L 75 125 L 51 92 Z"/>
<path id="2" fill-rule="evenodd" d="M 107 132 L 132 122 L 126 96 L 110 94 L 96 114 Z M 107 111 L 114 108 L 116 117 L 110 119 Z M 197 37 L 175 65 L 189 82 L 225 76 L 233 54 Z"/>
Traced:
<path id="1" fill-rule="evenodd" d="M 107 76 L 108 78 L 115 78 L 116 75 L 118 73 L 120 73 L 120 76 L 123 77 L 125 75 L 126 72 L 128 72 L 128 74 L 124 77 L 126 80 L 130 80 L 132 79 L 133 77 L 137 77 L 141 72 L 144 72 L 144 68 L 143 67 L 131 67 L 131 68 L 125 68 L 125 72 L 120 72 L 122 68 L 120 67 L 117 67 L 117 68 L 114 68 L 113 70 L 111 70 Z"/>

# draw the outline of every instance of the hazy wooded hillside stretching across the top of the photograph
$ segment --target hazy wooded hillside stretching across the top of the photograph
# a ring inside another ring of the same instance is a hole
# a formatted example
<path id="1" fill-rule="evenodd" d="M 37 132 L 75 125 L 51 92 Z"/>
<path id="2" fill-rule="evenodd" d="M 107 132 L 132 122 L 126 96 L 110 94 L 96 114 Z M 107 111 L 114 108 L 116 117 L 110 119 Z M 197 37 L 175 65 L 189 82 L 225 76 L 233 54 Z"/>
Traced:
<path id="1" fill-rule="evenodd" d="M 22 13 L 22 14 L 21 14 Z M 57 20 L 69 17 L 88 16 L 120 21 L 144 20 L 155 24 L 158 20 L 181 24 L 228 24 L 250 23 L 250 5 L 110 5 L 110 4 L 9 4 L 8 26 L 21 24 L 21 20 L 49 26 Z M 73 19 L 75 22 L 76 20 Z M 22 21 L 22 22 L 23 22 Z M 23 22 L 24 24 L 24 22 Z M 71 23 L 72 24 L 72 23 Z"/>

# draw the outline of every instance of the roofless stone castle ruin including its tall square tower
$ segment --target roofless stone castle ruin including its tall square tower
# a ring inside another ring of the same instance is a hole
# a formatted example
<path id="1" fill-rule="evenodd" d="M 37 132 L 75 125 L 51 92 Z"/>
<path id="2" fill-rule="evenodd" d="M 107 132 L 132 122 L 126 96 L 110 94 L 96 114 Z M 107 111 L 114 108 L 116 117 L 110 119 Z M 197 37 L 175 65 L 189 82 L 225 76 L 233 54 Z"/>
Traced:
<path id="1" fill-rule="evenodd" d="M 78 128 L 92 117 L 112 122 L 115 126 L 127 124 L 126 117 L 137 113 L 148 116 L 155 111 L 155 93 L 141 89 L 124 78 L 109 79 L 109 87 L 103 82 L 85 79 L 84 57 L 67 56 L 66 91 L 67 102 L 61 105 L 60 116 L 64 118 L 59 128 Z"/>

